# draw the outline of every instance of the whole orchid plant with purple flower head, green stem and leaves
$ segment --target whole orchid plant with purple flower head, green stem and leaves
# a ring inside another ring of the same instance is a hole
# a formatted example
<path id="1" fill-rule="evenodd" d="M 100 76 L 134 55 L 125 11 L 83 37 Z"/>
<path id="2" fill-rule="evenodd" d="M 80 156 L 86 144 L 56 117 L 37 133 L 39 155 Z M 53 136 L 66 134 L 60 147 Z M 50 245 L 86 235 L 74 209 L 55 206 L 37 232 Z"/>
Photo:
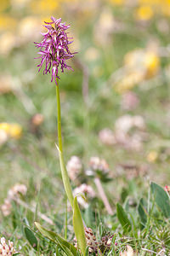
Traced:
<path id="1" fill-rule="evenodd" d="M 61 19 L 56 20 L 54 17 L 51 17 L 51 22 L 44 22 L 47 32 L 42 33 L 42 42 L 35 43 L 37 49 L 39 49 L 38 54 L 40 55 L 38 58 L 41 59 L 41 62 L 37 67 L 39 67 L 38 72 L 42 69 L 42 66 L 45 65 L 45 69 L 43 70 L 43 74 L 51 73 L 52 79 L 51 82 L 55 82 L 56 87 L 56 100 L 57 100 L 57 115 L 58 115 L 58 140 L 59 144 L 56 147 L 59 151 L 59 164 L 62 175 L 62 180 L 65 187 L 65 193 L 68 200 L 71 203 L 71 207 L 73 210 L 73 227 L 75 231 L 75 235 L 77 237 L 77 244 L 82 253 L 82 255 L 86 254 L 87 245 L 86 245 L 86 237 L 84 232 L 84 224 L 82 221 L 82 215 L 77 203 L 77 196 L 74 197 L 72 194 L 70 179 L 65 167 L 64 154 L 63 154 L 63 146 L 62 146 L 62 137 L 61 137 L 61 115 L 60 115 L 60 99 L 59 99 L 59 67 L 61 73 L 64 73 L 65 69 L 71 69 L 70 66 L 67 65 L 66 61 L 74 57 L 76 53 L 71 53 L 69 49 L 69 44 L 72 38 L 68 37 L 68 32 L 66 30 L 70 27 L 70 25 L 65 25 L 65 23 L 61 23 Z M 50 240 L 54 241 L 60 249 L 64 252 L 69 252 L 68 255 L 77 255 L 79 251 L 77 248 L 72 246 L 71 243 L 66 241 L 61 236 L 55 234 L 52 231 L 44 229 L 37 222 L 35 223 L 37 229 Z M 70 254 L 71 253 L 71 254 Z"/>

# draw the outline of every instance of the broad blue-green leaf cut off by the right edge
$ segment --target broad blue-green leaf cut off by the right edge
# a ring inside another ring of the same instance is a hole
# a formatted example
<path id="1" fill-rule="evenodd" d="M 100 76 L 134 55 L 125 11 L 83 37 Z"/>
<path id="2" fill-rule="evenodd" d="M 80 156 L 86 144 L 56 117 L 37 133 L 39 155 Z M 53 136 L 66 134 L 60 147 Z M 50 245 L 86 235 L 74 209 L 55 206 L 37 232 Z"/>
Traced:
<path id="1" fill-rule="evenodd" d="M 167 192 L 156 183 L 150 184 L 151 192 L 155 197 L 157 206 L 166 218 L 170 218 L 170 200 Z"/>

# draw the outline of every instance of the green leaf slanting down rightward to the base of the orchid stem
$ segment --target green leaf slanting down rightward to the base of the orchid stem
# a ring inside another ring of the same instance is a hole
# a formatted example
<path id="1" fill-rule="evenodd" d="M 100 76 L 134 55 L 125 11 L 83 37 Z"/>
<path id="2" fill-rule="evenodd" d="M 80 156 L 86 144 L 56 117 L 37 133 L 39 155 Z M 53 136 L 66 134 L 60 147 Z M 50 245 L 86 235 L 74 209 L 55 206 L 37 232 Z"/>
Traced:
<path id="1" fill-rule="evenodd" d="M 53 231 L 46 230 L 41 224 L 35 222 L 37 230 L 42 233 L 43 236 L 47 237 L 50 241 L 57 244 L 67 255 L 77 255 L 77 248 L 74 247 L 70 242 L 66 241 L 62 236 L 55 234 Z"/>

